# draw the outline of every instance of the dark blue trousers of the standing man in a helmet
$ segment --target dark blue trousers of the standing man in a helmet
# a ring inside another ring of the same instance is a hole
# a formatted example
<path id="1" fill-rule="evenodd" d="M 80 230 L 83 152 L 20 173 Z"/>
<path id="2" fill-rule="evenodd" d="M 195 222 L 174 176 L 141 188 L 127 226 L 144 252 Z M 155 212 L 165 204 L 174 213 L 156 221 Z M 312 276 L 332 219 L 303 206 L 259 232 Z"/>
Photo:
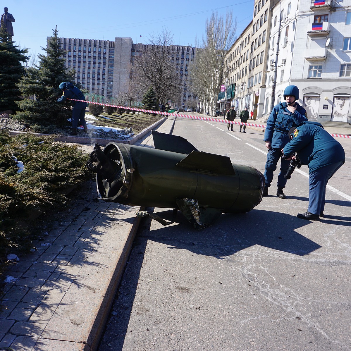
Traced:
<path id="1" fill-rule="evenodd" d="M 282 157 L 282 152 L 280 151 L 282 148 L 270 148 L 267 153 L 267 162 L 265 165 L 264 178 L 266 180 L 265 188 L 269 188 L 271 186 L 273 180 L 273 172 L 277 169 L 277 163 L 279 159 Z M 281 160 L 280 161 L 280 172 L 278 174 L 278 188 L 285 188 L 285 184 L 287 179 L 284 178 L 288 168 L 290 165 L 289 160 Z"/>

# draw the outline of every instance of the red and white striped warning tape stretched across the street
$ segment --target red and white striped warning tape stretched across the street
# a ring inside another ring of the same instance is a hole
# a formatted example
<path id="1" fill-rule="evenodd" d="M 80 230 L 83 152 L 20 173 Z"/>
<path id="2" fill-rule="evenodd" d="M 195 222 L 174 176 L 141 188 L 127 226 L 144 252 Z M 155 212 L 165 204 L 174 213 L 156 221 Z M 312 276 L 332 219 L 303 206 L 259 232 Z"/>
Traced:
<path id="1" fill-rule="evenodd" d="M 146 113 L 155 113 L 155 114 L 161 114 L 161 115 L 167 115 L 167 116 L 175 116 L 175 117 L 183 117 L 183 118 L 189 118 L 189 119 L 198 119 L 198 120 L 202 120 L 202 121 L 219 122 L 219 123 L 226 123 L 226 124 L 230 123 L 230 124 L 238 124 L 238 125 L 249 126 L 249 127 L 266 128 L 265 124 L 244 123 L 244 122 L 229 121 L 227 119 L 218 119 L 218 118 L 213 118 L 213 117 L 203 117 L 203 116 L 194 116 L 194 115 L 189 115 L 189 114 L 180 114 L 180 113 L 169 113 L 169 112 L 145 110 L 144 108 L 135 108 L 135 107 L 129 107 L 129 106 L 102 104 L 101 102 L 94 102 L 94 101 L 85 101 L 85 100 L 77 100 L 77 99 L 67 99 L 67 100 L 82 101 L 82 102 L 87 102 L 88 104 L 95 104 L 95 105 L 101 105 L 101 106 L 118 107 L 118 108 L 123 108 L 124 110 L 140 111 L 140 112 L 146 112 Z M 351 138 L 350 135 L 344 135 L 344 134 L 330 134 L 330 135 L 332 137 L 338 137 L 338 138 L 348 138 L 348 139 Z"/>

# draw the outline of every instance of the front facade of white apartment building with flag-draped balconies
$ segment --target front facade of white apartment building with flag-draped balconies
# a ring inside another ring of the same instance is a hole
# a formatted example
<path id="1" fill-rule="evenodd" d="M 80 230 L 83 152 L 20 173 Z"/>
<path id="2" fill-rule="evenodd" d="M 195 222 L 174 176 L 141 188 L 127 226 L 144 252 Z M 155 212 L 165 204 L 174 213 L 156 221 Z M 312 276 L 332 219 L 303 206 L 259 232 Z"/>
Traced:
<path id="1" fill-rule="evenodd" d="M 299 1 L 291 84 L 309 119 L 351 122 L 351 0 Z"/>

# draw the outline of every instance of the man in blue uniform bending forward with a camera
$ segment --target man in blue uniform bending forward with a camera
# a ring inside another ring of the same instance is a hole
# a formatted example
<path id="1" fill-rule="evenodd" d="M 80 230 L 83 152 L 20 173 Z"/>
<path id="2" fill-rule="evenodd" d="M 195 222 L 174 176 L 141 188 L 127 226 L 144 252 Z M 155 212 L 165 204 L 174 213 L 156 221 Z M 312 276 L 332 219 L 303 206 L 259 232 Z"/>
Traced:
<path id="1" fill-rule="evenodd" d="M 291 141 L 282 149 L 288 159 L 296 159 L 309 167 L 309 205 L 298 218 L 319 220 L 324 217 L 325 188 L 328 180 L 345 163 L 345 151 L 323 126 L 305 121 L 289 131 Z"/>

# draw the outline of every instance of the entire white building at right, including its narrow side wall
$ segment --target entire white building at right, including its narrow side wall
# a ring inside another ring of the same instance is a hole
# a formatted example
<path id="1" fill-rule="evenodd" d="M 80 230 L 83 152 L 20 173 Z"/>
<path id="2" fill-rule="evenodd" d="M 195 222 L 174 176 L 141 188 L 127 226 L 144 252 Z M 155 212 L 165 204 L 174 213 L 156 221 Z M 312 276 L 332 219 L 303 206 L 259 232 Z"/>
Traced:
<path id="1" fill-rule="evenodd" d="M 351 122 L 351 0 L 281 1 L 275 6 L 273 18 L 281 12 L 280 44 L 269 57 L 265 113 L 277 104 L 285 86 L 293 84 L 300 90 L 299 103 L 309 120 Z M 289 12 L 297 6 L 297 14 Z M 270 40 L 277 37 L 272 26 Z M 285 36 L 284 36 L 285 34 Z M 274 68 L 277 79 L 274 81 Z M 274 103 L 272 86 L 275 82 Z"/>

